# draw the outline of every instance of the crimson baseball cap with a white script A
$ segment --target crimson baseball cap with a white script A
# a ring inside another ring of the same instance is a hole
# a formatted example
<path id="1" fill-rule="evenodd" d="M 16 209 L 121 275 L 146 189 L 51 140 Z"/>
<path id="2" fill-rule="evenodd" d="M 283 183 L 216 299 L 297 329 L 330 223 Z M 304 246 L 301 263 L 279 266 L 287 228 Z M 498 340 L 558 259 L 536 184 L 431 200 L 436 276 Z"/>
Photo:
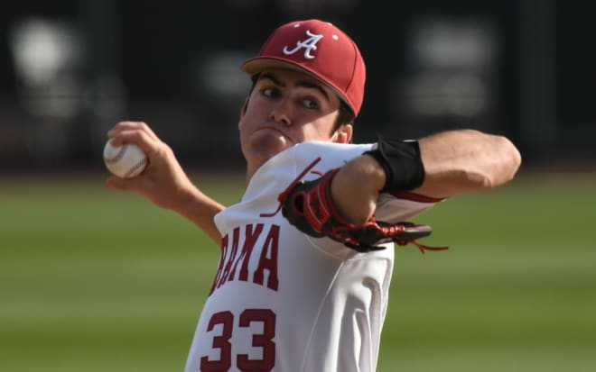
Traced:
<path id="1" fill-rule="evenodd" d="M 285 23 L 275 29 L 242 70 L 253 76 L 266 68 L 292 68 L 331 86 L 358 116 L 366 68 L 356 43 L 331 23 L 316 19 Z"/>

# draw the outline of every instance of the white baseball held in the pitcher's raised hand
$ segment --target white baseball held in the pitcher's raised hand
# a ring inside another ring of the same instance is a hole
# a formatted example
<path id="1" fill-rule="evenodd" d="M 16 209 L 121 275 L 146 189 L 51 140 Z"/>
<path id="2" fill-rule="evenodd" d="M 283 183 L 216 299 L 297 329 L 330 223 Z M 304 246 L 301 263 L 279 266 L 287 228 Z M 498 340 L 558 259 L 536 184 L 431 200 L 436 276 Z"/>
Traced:
<path id="1" fill-rule="evenodd" d="M 136 177 L 147 166 L 147 157 L 140 147 L 133 143 L 112 146 L 107 141 L 104 148 L 104 163 L 112 174 L 121 178 Z"/>

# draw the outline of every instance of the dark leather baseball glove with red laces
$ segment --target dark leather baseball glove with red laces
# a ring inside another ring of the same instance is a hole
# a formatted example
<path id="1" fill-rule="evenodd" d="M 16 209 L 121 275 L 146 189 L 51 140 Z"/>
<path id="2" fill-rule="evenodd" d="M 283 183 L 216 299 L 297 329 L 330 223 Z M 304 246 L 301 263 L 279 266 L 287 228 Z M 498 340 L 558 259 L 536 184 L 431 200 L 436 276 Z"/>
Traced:
<path id="1" fill-rule="evenodd" d="M 318 179 L 301 181 L 320 160 L 321 158 L 315 159 L 277 198 L 280 207 L 275 213 L 281 208 L 284 217 L 298 230 L 317 238 L 327 236 L 360 252 L 382 250 L 383 247 L 379 244 L 390 241 L 398 245 L 413 243 L 423 253 L 425 250 L 446 249 L 427 247 L 416 241 L 431 234 L 432 229 L 427 225 L 376 221 L 374 215 L 363 223 L 347 222 L 337 212 L 331 198 L 331 181 L 339 168 L 331 169 Z M 264 213 L 262 216 L 275 213 Z"/>

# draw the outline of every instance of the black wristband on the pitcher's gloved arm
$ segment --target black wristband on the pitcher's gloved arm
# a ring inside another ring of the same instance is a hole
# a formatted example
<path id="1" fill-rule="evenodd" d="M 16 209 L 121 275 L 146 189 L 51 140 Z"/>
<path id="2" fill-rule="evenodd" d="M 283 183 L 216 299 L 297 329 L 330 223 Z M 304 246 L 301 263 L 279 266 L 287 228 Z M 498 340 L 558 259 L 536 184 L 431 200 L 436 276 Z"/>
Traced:
<path id="1" fill-rule="evenodd" d="M 385 170 L 386 182 L 381 192 L 412 190 L 424 182 L 424 164 L 418 141 L 380 139 L 377 147 L 364 152 L 377 159 Z"/>

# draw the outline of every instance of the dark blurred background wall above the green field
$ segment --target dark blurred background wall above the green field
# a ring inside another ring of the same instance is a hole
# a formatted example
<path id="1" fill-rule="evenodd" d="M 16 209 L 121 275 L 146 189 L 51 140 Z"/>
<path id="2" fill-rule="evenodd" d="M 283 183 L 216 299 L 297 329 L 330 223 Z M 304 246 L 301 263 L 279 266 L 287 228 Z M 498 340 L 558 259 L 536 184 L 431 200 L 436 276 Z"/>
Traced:
<path id="1" fill-rule="evenodd" d="M 581 0 L 22 0 L 0 13 L 0 172 L 102 167 L 148 122 L 191 167 L 243 166 L 240 63 L 273 29 L 335 23 L 368 66 L 357 141 L 508 135 L 525 165 L 596 159 L 594 5 Z M 214 156 L 214 154 L 217 154 Z"/>

